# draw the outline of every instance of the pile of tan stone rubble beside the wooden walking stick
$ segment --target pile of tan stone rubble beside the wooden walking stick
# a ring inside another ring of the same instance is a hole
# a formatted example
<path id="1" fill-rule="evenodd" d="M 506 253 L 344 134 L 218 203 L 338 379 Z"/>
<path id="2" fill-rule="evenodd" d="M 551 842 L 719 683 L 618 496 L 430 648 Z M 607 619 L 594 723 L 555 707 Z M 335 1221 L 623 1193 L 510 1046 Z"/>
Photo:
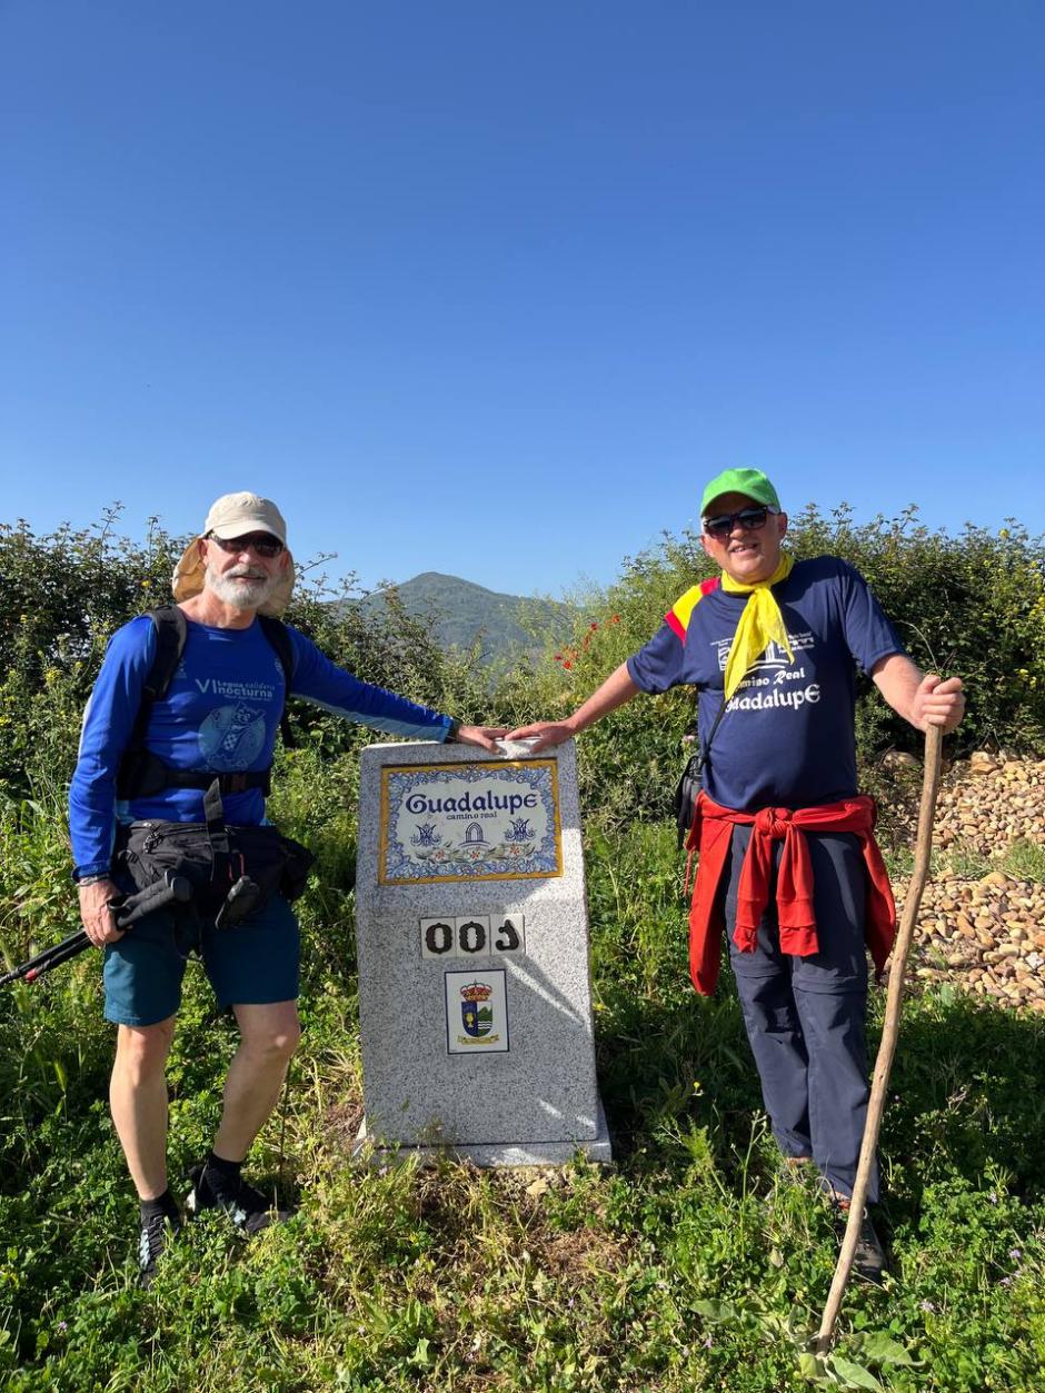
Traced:
<path id="1" fill-rule="evenodd" d="M 1045 1014 L 1044 858 L 1031 850 L 1045 847 L 1045 761 L 956 762 L 940 787 L 934 846 L 911 975 Z M 907 880 L 895 878 L 893 890 L 899 912 Z"/>

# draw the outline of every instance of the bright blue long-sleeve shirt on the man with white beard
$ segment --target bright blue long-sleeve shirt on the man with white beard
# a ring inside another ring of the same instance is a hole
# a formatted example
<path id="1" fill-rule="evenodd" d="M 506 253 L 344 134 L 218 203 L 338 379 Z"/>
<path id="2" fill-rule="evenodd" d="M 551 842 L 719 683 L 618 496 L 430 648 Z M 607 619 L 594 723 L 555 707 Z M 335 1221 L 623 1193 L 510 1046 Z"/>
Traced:
<path id="1" fill-rule="evenodd" d="M 348 720 L 393 736 L 446 740 L 450 717 L 361 683 L 287 625 L 294 651 L 291 694 Z M 148 798 L 117 800 L 116 777 L 134 731 L 156 652 L 148 614 L 109 641 L 84 712 L 79 756 L 70 787 L 70 836 L 75 876 L 109 871 L 117 822 L 157 818 L 203 820 L 198 788 L 164 788 Z M 153 703 L 145 745 L 176 769 L 223 773 L 272 763 L 284 702 L 283 666 L 255 620 L 249 628 L 212 628 L 189 620 L 185 649 L 163 698 Z M 265 820 L 261 788 L 223 795 L 230 823 Z"/>

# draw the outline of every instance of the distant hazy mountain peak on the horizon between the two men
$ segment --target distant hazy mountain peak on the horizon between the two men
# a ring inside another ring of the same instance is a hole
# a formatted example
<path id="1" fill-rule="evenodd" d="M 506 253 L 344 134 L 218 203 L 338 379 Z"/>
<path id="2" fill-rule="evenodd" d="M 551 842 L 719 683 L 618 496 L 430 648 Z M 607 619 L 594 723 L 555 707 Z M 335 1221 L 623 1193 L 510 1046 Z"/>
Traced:
<path id="1" fill-rule="evenodd" d="M 562 627 L 563 637 L 570 624 L 570 607 L 557 600 L 527 599 L 522 595 L 499 595 L 458 575 L 424 571 L 396 586 L 398 599 L 412 618 L 432 621 L 432 630 L 444 648 L 471 648 L 482 639 L 482 660 L 532 652 L 532 627 Z M 344 600 L 339 603 L 346 603 Z M 380 613 L 386 607 L 386 592 L 373 591 L 358 603 L 364 612 Z M 539 645 L 536 645 L 539 646 Z"/>

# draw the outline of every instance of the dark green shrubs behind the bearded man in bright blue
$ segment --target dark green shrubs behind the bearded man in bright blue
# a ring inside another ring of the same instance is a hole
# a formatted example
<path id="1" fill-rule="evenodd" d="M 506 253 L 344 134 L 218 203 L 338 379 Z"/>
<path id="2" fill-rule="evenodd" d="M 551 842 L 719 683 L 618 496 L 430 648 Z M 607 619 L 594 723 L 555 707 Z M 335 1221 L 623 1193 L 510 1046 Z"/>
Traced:
<path id="1" fill-rule="evenodd" d="M 138 543 L 116 532 L 117 518 L 110 510 L 98 527 L 42 536 L 24 521 L 0 524 L 0 788 L 8 793 L 31 794 L 38 776 L 68 779 L 110 635 L 142 610 L 170 603 L 170 577 L 187 539 L 153 520 Z M 286 617 L 362 681 L 465 722 L 485 719 L 492 705 L 509 717 L 525 715 L 524 673 L 504 673 L 504 696 L 493 696 L 475 655 L 446 653 L 431 625 L 411 618 L 394 596 L 385 618 L 346 603 L 351 591 L 351 578 L 330 586 L 305 566 Z M 290 716 L 302 744 L 329 758 L 372 738 L 307 703 L 291 703 Z"/>

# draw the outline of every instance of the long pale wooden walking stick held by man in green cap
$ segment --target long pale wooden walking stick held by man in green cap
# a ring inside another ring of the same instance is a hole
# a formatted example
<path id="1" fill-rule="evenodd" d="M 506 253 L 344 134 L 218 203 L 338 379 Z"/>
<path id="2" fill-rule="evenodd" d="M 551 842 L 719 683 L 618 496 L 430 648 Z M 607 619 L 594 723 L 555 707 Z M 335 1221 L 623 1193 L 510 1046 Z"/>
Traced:
<path id="1" fill-rule="evenodd" d="M 914 869 L 911 883 L 907 887 L 907 897 L 903 901 L 903 917 L 900 932 L 893 944 L 893 965 L 889 968 L 889 995 L 885 1004 L 885 1024 L 882 1027 L 882 1043 L 878 1048 L 875 1060 L 875 1077 L 871 1082 L 871 1098 L 867 1105 L 867 1123 L 864 1124 L 864 1141 L 860 1148 L 860 1163 L 857 1165 L 857 1178 L 853 1185 L 853 1198 L 849 1205 L 849 1219 L 846 1220 L 846 1236 L 842 1240 L 835 1276 L 828 1293 L 828 1302 L 823 1307 L 819 1333 L 816 1336 L 816 1354 L 826 1354 L 835 1339 L 835 1322 L 842 1308 L 842 1297 L 846 1293 L 846 1283 L 853 1269 L 853 1258 L 860 1241 L 860 1224 L 864 1217 L 864 1204 L 867 1188 L 871 1180 L 871 1167 L 878 1148 L 878 1134 L 882 1127 L 882 1113 L 885 1112 L 885 1095 L 889 1088 L 889 1074 L 896 1055 L 896 1042 L 900 1035 L 900 1010 L 903 1007 L 903 978 L 907 968 L 907 957 L 914 937 L 914 925 L 918 919 L 925 882 L 929 879 L 929 853 L 932 851 L 932 818 L 936 811 L 936 793 L 939 790 L 940 775 L 940 729 L 929 726 L 925 731 L 925 769 L 921 784 L 921 808 L 918 811 L 918 840 L 914 844 Z"/>

